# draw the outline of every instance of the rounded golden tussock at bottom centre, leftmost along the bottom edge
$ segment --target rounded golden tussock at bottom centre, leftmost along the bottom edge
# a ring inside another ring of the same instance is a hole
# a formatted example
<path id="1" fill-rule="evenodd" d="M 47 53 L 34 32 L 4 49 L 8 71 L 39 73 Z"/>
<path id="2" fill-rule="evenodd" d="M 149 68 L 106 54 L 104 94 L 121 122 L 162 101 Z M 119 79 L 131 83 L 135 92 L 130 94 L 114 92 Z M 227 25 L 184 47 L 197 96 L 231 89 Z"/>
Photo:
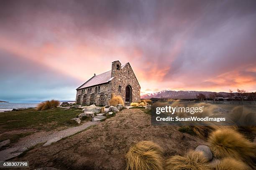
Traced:
<path id="1" fill-rule="evenodd" d="M 126 170 L 163 170 L 163 150 L 151 141 L 132 146 L 126 157 Z"/>

